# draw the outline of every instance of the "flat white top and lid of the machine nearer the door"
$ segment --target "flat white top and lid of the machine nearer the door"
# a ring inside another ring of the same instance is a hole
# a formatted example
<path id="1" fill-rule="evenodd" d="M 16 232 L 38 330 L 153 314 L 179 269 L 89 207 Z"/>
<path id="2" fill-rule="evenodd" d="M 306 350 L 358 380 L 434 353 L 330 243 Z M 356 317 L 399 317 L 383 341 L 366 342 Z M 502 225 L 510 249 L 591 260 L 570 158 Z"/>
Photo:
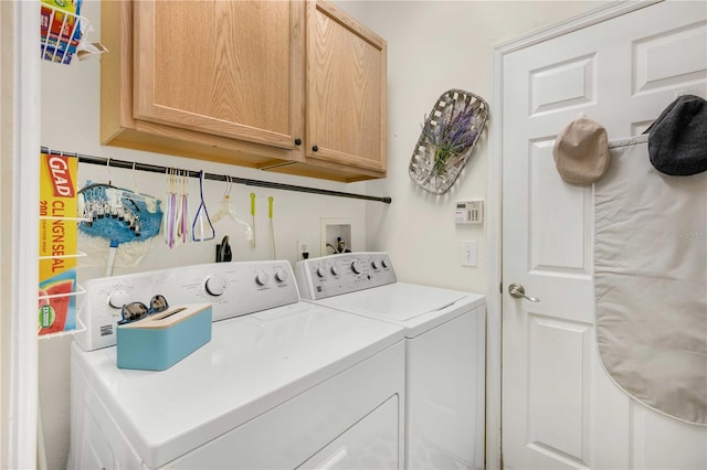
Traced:
<path id="1" fill-rule="evenodd" d="M 478 293 L 395 282 L 317 300 L 318 305 L 405 328 L 413 338 L 485 303 Z"/>

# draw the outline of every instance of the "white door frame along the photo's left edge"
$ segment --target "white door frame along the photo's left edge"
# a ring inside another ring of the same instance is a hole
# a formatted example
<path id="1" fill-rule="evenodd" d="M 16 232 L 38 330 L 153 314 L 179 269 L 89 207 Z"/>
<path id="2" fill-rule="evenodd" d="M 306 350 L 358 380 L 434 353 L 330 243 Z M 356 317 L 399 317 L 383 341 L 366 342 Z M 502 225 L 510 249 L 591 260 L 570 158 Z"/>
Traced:
<path id="1" fill-rule="evenodd" d="M 0 467 L 36 468 L 40 2 L 0 10 Z"/>

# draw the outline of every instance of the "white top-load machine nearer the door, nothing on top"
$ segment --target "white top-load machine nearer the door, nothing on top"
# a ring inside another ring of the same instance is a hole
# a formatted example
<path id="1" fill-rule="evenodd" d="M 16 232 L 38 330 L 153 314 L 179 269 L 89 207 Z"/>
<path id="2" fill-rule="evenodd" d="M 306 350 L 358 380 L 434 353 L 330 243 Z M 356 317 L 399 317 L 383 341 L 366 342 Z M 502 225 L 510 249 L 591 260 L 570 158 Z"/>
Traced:
<path id="1" fill-rule="evenodd" d="M 405 468 L 484 468 L 486 301 L 398 282 L 386 253 L 297 263 L 303 299 L 405 331 Z"/>

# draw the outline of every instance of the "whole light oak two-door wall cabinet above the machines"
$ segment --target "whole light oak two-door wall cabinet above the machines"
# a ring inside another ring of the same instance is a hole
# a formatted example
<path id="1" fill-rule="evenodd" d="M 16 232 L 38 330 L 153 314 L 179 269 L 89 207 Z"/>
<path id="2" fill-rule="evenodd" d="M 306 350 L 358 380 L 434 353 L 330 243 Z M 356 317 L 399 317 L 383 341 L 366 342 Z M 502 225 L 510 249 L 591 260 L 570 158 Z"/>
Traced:
<path id="1" fill-rule="evenodd" d="M 386 174 L 386 43 L 330 3 L 106 0 L 102 42 L 103 143 Z"/>

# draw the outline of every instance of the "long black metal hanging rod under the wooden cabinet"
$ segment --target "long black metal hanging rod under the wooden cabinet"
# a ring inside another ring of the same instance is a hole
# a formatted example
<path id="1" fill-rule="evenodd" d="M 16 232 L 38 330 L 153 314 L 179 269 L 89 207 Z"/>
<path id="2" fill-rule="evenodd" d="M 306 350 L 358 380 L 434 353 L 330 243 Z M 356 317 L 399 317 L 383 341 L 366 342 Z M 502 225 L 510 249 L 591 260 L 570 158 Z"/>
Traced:
<path id="1" fill-rule="evenodd" d="M 64 154 L 64 156 L 68 156 L 68 157 L 76 157 L 78 159 L 80 163 L 89 163 L 89 164 L 101 164 L 104 167 L 115 167 L 115 168 L 125 168 L 128 170 L 140 170 L 140 171 L 147 171 L 150 173 L 161 173 L 165 174 L 166 172 L 168 172 L 171 167 L 160 167 L 157 164 L 149 164 L 149 163 L 139 163 L 139 162 L 133 162 L 133 161 L 127 161 L 127 160 L 117 160 L 114 158 L 105 158 L 105 157 L 94 157 L 94 156 L 87 156 L 87 154 L 83 154 L 83 153 L 75 153 L 75 152 L 64 152 L 64 151 L 60 151 L 60 150 L 51 150 L 48 147 L 42 147 L 42 152 L 44 153 L 60 153 L 60 154 Z M 199 172 L 198 171 L 192 171 L 192 170 L 186 170 L 186 175 L 190 177 L 190 178 L 199 178 Z M 365 201 L 376 201 L 376 202 L 382 202 L 384 204 L 390 204 L 392 202 L 392 199 L 389 196 L 371 196 L 371 195 L 366 195 L 366 194 L 355 194 L 355 193 L 346 193 L 346 192 L 341 192 L 341 191 L 330 191 L 330 190 L 323 190 L 319 188 L 307 188 L 307 186 L 297 186 L 294 184 L 284 184 L 284 183 L 274 183 L 271 181 L 261 181 L 261 180 L 251 180 L 247 178 L 238 178 L 238 177 L 229 177 L 225 174 L 213 174 L 213 173 L 203 173 L 203 178 L 207 180 L 213 180 L 213 181 L 224 181 L 224 182 L 230 182 L 232 181 L 233 183 L 238 183 L 238 184 L 245 184 L 246 186 L 257 186 L 257 188 L 270 188 L 273 190 L 283 190 L 283 191 L 294 191 L 294 192 L 299 192 L 299 193 L 310 193 L 310 194 L 321 194 L 321 195 L 328 195 L 328 196 L 335 196 L 335 197 L 349 197 L 349 199 L 360 199 L 360 200 L 365 200 Z"/>

